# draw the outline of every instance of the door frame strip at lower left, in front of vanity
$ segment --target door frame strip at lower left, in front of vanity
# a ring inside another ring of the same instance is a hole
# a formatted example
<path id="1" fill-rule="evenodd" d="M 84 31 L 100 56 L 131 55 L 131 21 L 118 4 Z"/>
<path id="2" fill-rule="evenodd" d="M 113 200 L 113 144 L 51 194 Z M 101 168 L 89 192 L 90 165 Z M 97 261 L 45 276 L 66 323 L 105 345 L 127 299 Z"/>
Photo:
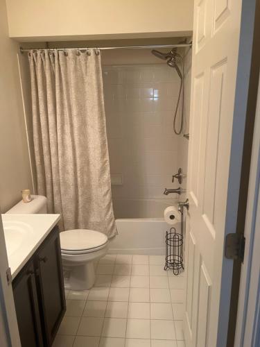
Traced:
<path id="1" fill-rule="evenodd" d="M 0 342 L 3 347 L 21 347 L 12 284 L 8 285 L 6 277 L 7 269 L 8 257 L 0 213 Z"/>

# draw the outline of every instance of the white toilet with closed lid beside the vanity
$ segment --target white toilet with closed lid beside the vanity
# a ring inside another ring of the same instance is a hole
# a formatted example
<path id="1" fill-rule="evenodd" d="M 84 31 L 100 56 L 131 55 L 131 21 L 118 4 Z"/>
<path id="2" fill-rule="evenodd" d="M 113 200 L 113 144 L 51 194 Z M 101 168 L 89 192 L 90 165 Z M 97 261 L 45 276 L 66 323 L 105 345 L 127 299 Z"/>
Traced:
<path id="1" fill-rule="evenodd" d="M 6 213 L 47 213 L 45 196 L 32 195 L 30 203 L 20 201 Z M 108 239 L 102 232 L 76 229 L 60 232 L 64 271 L 69 271 L 69 289 L 85 290 L 95 282 L 94 260 L 107 253 Z"/>

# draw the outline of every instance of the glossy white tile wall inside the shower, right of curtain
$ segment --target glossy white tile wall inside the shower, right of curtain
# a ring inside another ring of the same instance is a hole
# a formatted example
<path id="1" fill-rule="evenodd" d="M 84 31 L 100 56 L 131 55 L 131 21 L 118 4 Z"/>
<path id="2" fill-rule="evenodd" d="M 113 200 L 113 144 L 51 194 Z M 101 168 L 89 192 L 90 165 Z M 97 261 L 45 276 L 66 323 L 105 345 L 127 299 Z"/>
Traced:
<path id="1" fill-rule="evenodd" d="M 103 83 L 110 170 L 123 175 L 123 185 L 112 186 L 114 209 L 127 218 L 116 208 L 122 199 L 166 198 L 164 188 L 177 187 L 172 124 L 180 78 L 164 64 L 103 66 Z"/>

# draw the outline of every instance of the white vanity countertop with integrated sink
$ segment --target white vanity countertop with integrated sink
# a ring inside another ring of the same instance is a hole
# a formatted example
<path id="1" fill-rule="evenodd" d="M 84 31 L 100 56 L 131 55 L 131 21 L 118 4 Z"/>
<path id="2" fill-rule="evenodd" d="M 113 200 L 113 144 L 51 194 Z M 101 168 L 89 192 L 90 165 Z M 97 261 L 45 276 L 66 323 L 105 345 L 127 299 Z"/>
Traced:
<path id="1" fill-rule="evenodd" d="M 6 236 L 8 263 L 14 279 L 58 223 L 60 214 L 2 214 L 1 216 L 6 235 L 12 230 L 12 226 L 21 230 L 17 235 L 14 234 L 13 238 L 8 239 L 8 244 Z"/>

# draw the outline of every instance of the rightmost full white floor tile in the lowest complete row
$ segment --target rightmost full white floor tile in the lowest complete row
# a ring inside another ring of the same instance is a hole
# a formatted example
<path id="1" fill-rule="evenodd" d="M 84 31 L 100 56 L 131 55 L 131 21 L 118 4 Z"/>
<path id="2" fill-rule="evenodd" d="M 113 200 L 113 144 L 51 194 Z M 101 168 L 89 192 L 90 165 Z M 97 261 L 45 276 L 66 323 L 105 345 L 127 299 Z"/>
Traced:
<path id="1" fill-rule="evenodd" d="M 152 319 L 150 321 L 150 330 L 152 339 L 175 340 L 173 321 L 159 321 Z"/>

